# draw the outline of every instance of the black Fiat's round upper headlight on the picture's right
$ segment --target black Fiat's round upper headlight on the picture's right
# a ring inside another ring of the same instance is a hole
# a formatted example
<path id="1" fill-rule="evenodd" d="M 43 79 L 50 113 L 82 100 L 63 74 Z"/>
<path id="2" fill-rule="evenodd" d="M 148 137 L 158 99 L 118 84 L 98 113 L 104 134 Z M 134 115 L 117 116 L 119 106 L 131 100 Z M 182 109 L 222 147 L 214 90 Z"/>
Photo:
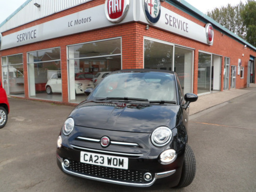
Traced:
<path id="1" fill-rule="evenodd" d="M 166 126 L 155 129 L 151 135 L 151 141 L 156 146 L 164 146 L 172 139 L 173 133 Z"/>

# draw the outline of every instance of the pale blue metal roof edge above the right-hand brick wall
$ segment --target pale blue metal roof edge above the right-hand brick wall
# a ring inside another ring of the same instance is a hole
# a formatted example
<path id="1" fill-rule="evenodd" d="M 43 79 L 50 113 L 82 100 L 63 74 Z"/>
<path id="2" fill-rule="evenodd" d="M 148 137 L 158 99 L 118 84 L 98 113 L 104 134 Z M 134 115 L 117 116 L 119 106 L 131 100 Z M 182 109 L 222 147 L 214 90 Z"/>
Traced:
<path id="1" fill-rule="evenodd" d="M 166 0 L 166 2 L 171 4 L 171 5 L 173 5 L 173 6 L 175 6 L 178 9 L 181 9 L 182 11 L 186 12 L 187 14 L 189 14 L 191 16 L 196 16 L 197 19 L 199 19 L 199 20 L 201 20 L 201 21 L 203 21 L 205 23 L 206 22 L 210 22 L 212 25 L 214 25 L 215 27 L 219 28 L 220 31 L 223 31 L 226 34 L 229 34 L 232 38 L 237 39 L 241 43 L 247 45 L 248 47 L 250 47 L 250 48 L 252 48 L 253 50 L 256 51 L 256 47 L 252 46 L 246 40 L 242 39 L 238 35 L 234 34 L 231 31 L 229 31 L 227 28 L 225 28 L 224 26 L 222 26 L 221 24 L 216 22 L 216 20 L 214 20 L 214 19 L 210 18 L 209 16 L 207 16 L 206 14 L 202 13 L 200 10 L 198 10 L 197 8 L 191 6 L 186 1 L 184 1 L 184 0 Z M 188 10 L 193 11 L 193 12 L 190 12 Z"/>

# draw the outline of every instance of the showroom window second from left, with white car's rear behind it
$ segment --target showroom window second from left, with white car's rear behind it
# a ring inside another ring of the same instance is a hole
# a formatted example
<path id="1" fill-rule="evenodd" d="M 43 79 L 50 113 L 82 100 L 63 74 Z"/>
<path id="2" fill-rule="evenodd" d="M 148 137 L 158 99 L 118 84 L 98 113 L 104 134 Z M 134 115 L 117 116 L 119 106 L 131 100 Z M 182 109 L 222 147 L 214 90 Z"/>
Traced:
<path id="1" fill-rule="evenodd" d="M 28 53 L 29 96 L 62 101 L 60 48 Z"/>

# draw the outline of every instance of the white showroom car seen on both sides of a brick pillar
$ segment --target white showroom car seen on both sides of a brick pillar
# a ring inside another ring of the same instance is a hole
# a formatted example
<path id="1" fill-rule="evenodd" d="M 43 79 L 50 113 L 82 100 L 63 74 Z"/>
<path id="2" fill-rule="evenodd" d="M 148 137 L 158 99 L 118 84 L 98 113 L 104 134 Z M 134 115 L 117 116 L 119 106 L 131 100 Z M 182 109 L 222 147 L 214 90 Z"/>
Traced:
<path id="1" fill-rule="evenodd" d="M 75 92 L 76 94 L 84 94 L 86 89 L 94 89 L 93 82 L 91 80 L 75 80 Z M 46 93 L 61 93 L 62 83 L 61 83 L 61 73 L 57 72 L 52 74 L 51 78 L 46 83 Z"/>

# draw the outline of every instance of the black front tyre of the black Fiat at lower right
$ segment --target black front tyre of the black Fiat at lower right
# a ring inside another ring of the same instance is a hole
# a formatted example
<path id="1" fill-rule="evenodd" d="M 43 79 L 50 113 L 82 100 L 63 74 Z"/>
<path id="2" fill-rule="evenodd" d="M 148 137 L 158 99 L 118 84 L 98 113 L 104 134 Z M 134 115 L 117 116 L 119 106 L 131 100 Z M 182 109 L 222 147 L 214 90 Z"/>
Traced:
<path id="1" fill-rule="evenodd" d="M 180 182 L 177 188 L 186 187 L 192 183 L 196 175 L 196 158 L 191 147 L 186 144 L 185 156 Z"/>

